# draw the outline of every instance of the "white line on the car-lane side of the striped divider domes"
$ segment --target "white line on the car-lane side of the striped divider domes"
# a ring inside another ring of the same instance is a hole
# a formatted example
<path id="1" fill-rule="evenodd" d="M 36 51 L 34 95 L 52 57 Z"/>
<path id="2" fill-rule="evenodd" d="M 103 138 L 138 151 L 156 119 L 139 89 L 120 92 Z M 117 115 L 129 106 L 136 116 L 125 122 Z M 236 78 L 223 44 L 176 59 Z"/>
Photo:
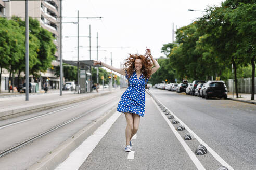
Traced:
<path id="1" fill-rule="evenodd" d="M 153 100 L 154 101 L 154 100 Z M 155 101 L 154 101 L 155 102 Z M 158 100 L 159 103 L 161 103 Z M 156 103 L 155 103 L 156 104 Z M 162 103 L 161 103 L 162 104 Z M 157 105 L 157 104 L 156 104 Z M 163 104 L 162 104 L 163 105 Z M 164 105 L 163 105 L 164 106 Z M 158 106 L 157 106 L 158 107 Z M 165 106 L 164 106 L 165 107 Z M 159 108 L 159 107 L 158 107 Z M 209 147 L 199 136 L 197 136 L 183 121 L 181 121 L 171 110 L 169 110 L 167 107 L 165 107 L 170 113 L 174 116 L 174 118 L 179 121 L 181 124 L 184 125 L 184 127 L 187 129 L 187 131 L 191 134 L 194 135 L 194 137 L 199 141 L 200 144 L 204 145 L 206 149 L 212 154 L 212 156 L 219 161 L 222 166 L 226 166 L 229 170 L 234 170 L 231 165 L 229 165 L 226 161 L 224 161 L 219 154 L 217 154 L 211 147 Z M 164 116 L 167 118 L 166 116 Z M 167 119 L 168 120 L 168 119 Z M 169 121 L 169 120 L 168 120 Z M 170 121 L 169 121 L 170 122 Z"/>

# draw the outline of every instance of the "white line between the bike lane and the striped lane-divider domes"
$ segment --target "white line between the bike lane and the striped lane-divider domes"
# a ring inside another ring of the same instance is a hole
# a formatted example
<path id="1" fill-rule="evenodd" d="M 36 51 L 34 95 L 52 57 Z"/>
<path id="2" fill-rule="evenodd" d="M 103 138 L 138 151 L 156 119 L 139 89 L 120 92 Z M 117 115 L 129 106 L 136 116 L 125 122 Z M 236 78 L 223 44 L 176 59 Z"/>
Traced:
<path id="1" fill-rule="evenodd" d="M 203 165 L 201 164 L 201 162 L 197 159 L 196 155 L 194 154 L 193 151 L 191 151 L 191 149 L 189 148 L 189 146 L 186 144 L 186 142 L 184 141 L 184 139 L 181 137 L 181 135 L 176 131 L 175 127 L 172 125 L 172 123 L 169 121 L 169 119 L 163 114 L 162 110 L 158 107 L 157 103 L 155 102 L 155 100 L 153 100 L 153 103 L 155 103 L 155 105 L 157 106 L 159 112 L 161 113 L 161 115 L 163 116 L 164 120 L 167 122 L 167 124 L 170 126 L 171 130 L 173 131 L 174 135 L 177 137 L 178 141 L 180 141 L 180 143 L 182 144 L 183 148 L 185 149 L 185 151 L 187 152 L 187 154 L 189 155 L 190 159 L 193 161 L 193 163 L 196 165 L 197 169 L 200 170 L 205 170 L 206 168 L 203 167 Z M 175 116 L 176 118 L 176 116 Z"/>

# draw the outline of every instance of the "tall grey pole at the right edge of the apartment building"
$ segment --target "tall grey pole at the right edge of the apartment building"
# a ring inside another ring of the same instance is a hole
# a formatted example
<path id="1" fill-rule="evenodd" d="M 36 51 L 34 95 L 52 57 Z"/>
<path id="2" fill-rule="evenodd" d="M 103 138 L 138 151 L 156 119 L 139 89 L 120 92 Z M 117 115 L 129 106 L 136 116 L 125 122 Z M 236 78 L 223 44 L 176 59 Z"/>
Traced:
<path id="1" fill-rule="evenodd" d="M 59 24 L 59 67 L 60 67 L 60 81 L 59 81 L 59 93 L 62 96 L 62 86 L 63 86 L 63 66 L 62 66 L 62 1 L 60 1 L 60 24 Z"/>

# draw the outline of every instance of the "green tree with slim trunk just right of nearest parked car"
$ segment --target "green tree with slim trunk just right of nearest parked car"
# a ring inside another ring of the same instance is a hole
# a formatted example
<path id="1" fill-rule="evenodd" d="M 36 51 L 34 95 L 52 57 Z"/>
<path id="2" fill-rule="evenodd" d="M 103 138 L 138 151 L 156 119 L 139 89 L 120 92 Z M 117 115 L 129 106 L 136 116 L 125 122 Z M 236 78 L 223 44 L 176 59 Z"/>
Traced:
<path id="1" fill-rule="evenodd" d="M 236 51 L 238 50 L 237 43 L 241 37 L 237 35 L 235 26 L 225 18 L 226 13 L 230 9 L 231 7 L 224 6 L 223 3 L 221 7 L 209 7 L 206 10 L 206 15 L 201 17 L 196 22 L 196 25 L 199 32 L 207 35 L 205 42 L 214 50 L 218 57 L 217 61 L 223 62 L 225 65 L 233 64 L 236 96 L 238 97 L 236 71 L 237 68 L 246 66 L 247 62 L 244 60 L 244 55 L 236 55 Z"/>

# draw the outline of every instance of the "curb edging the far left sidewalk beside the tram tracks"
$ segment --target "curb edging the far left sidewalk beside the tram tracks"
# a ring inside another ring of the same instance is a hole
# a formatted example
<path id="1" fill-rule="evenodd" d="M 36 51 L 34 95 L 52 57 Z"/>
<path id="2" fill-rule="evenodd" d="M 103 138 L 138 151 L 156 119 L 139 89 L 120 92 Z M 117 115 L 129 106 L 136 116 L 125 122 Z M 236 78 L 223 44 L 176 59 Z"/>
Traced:
<path id="1" fill-rule="evenodd" d="M 81 101 L 88 100 L 90 98 L 107 95 L 107 94 L 110 94 L 113 92 L 115 92 L 115 91 L 110 91 L 110 92 L 105 92 L 105 93 L 96 93 L 96 94 L 93 94 L 90 96 L 82 96 L 82 97 L 80 96 L 75 99 L 72 98 L 70 100 L 61 100 L 61 101 L 57 101 L 54 103 L 46 103 L 46 104 L 40 104 L 40 105 L 34 105 L 34 106 L 29 106 L 29 107 L 13 109 L 13 110 L 1 111 L 0 112 L 0 120 L 14 118 L 14 117 L 22 116 L 22 115 L 27 115 L 27 114 L 30 114 L 31 112 L 42 111 L 45 109 L 50 109 L 50 108 L 54 108 L 54 107 L 58 107 L 58 106 L 62 106 L 62 105 L 81 102 Z"/>

